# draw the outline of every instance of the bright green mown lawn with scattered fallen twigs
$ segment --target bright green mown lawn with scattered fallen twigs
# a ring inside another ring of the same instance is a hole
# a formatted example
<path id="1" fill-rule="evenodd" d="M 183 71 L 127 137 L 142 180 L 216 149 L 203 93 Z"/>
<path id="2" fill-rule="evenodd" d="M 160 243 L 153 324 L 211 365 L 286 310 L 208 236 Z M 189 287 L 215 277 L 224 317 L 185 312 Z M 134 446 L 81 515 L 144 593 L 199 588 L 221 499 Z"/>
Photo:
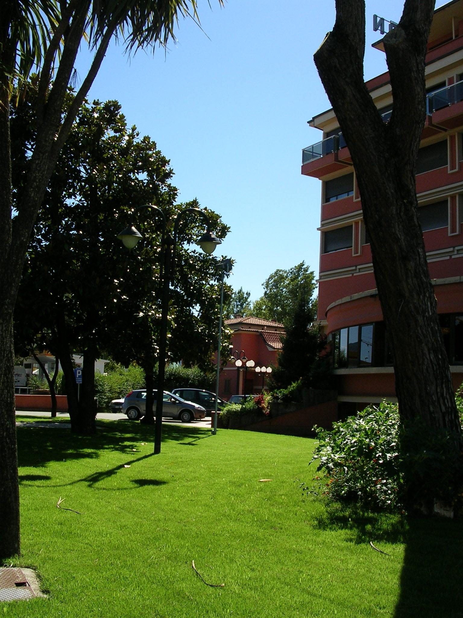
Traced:
<path id="1" fill-rule="evenodd" d="M 152 428 L 98 425 L 89 438 L 19 427 L 14 564 L 38 570 L 50 596 L 0 616 L 463 616 L 462 522 L 358 517 L 303 498 L 314 441 L 170 425 L 154 456 Z M 57 509 L 60 497 L 81 514 Z M 203 583 L 193 560 L 225 586 Z"/>

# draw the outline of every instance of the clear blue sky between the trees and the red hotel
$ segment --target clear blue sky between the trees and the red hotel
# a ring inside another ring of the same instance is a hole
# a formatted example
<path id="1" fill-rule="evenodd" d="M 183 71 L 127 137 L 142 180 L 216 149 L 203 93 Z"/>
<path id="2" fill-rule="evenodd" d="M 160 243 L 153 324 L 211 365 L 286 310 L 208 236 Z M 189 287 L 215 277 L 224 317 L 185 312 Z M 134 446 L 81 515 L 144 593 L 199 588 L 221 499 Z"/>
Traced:
<path id="1" fill-rule="evenodd" d="M 89 96 L 117 99 L 128 124 L 157 142 L 179 201 L 196 197 L 221 214 L 231 231 L 217 253 L 236 260 L 230 284 L 255 300 L 277 268 L 304 260 L 318 274 L 320 182 L 301 176 L 301 150 L 321 138 L 307 121 L 331 107 L 313 54 L 332 29 L 335 0 L 198 4 L 204 32 L 181 21 L 177 43 L 154 56 L 129 59 L 114 45 Z M 386 70 L 370 47 L 380 38 L 373 14 L 398 21 L 404 3 L 366 4 L 368 79 Z"/>

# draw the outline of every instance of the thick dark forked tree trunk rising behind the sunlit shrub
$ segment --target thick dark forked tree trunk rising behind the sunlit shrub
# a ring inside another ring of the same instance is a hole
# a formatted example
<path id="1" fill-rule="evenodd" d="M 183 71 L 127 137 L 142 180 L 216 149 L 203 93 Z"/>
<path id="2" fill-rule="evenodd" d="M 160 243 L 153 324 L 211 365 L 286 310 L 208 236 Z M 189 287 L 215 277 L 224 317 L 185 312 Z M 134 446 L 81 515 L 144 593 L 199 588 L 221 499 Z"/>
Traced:
<path id="1" fill-rule="evenodd" d="M 422 419 L 459 441 L 448 358 L 417 214 L 415 161 L 425 121 L 425 53 L 434 0 L 407 0 L 384 39 L 393 112 L 384 123 L 363 78 L 364 0 L 336 0 L 336 23 L 315 53 L 356 171 L 404 423 Z"/>

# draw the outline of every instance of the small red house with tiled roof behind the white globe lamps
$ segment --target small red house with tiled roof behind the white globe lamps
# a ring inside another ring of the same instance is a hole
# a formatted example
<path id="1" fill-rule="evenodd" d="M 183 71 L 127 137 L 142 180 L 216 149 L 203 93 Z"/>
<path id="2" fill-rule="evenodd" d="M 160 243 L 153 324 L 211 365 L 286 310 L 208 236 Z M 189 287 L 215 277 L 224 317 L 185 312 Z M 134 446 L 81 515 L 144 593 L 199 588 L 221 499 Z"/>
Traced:
<path id="1" fill-rule="evenodd" d="M 278 322 L 240 315 L 226 320 L 225 325 L 233 331 L 230 344 L 233 358 L 220 371 L 219 396 L 229 399 L 231 395 L 258 394 L 267 384 L 270 375 L 267 369 L 277 365 L 285 327 Z"/>

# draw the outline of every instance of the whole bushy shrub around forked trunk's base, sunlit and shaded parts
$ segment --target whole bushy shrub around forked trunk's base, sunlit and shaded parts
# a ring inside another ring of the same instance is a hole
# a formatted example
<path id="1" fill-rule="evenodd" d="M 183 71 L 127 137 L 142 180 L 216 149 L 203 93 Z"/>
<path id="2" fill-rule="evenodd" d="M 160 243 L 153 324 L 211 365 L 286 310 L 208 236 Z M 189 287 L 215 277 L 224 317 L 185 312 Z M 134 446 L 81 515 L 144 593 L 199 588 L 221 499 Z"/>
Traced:
<path id="1" fill-rule="evenodd" d="M 304 491 L 369 509 L 430 512 L 435 500 L 461 509 L 463 454 L 456 436 L 430 433 L 420 419 L 401 426 L 397 404 L 370 405 L 333 423 L 332 431 L 315 431 L 311 463 L 318 462 L 321 474 L 314 486 L 302 483 Z"/>

